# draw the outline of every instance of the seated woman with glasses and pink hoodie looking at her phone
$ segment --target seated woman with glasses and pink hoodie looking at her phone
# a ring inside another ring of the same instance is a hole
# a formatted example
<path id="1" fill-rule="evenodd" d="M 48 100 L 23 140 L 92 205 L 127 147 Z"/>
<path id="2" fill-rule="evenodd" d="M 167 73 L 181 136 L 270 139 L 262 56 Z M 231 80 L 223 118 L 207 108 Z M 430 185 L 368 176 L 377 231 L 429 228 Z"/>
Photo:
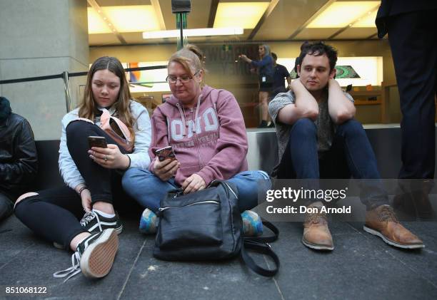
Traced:
<path id="1" fill-rule="evenodd" d="M 187 45 L 169 59 L 167 81 L 172 95 L 151 118 L 149 170 L 130 169 L 123 177 L 124 190 L 152 212 L 157 212 L 170 190 L 196 192 L 213 180 L 236 185 L 241 212 L 258 205 L 258 189 L 271 187 L 266 172 L 247 170 L 248 143 L 241 110 L 227 90 L 204 85 L 201 58 L 199 48 Z M 173 148 L 176 160 L 160 161 L 155 155 L 167 146 Z M 154 218 L 149 210 L 144 217 Z M 261 224 L 256 225 L 260 229 Z"/>

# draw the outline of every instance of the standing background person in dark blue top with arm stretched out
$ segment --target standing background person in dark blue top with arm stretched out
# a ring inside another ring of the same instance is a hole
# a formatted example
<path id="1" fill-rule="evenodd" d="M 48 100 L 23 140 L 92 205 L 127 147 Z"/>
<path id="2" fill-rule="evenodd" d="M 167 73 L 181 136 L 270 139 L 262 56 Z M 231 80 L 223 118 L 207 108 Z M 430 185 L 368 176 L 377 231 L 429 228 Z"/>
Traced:
<path id="1" fill-rule="evenodd" d="M 261 105 L 261 123 L 258 128 L 268 127 L 268 94 L 271 93 L 273 87 L 273 58 L 270 55 L 270 47 L 268 45 L 260 45 L 258 47 L 259 61 L 253 61 L 245 54 L 238 56 L 251 66 L 258 68 L 259 82 L 259 104 Z"/>

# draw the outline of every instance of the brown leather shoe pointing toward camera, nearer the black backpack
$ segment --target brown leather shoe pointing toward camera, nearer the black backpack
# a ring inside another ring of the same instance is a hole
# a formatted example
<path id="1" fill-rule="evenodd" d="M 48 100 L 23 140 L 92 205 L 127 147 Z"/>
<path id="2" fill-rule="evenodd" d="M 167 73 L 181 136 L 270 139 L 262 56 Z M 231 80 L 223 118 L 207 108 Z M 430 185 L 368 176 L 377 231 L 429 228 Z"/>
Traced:
<path id="1" fill-rule="evenodd" d="M 319 205 L 309 205 L 308 207 L 318 207 Z M 311 249 L 333 250 L 331 232 L 329 232 L 326 213 L 308 213 L 303 222 L 302 243 Z"/>

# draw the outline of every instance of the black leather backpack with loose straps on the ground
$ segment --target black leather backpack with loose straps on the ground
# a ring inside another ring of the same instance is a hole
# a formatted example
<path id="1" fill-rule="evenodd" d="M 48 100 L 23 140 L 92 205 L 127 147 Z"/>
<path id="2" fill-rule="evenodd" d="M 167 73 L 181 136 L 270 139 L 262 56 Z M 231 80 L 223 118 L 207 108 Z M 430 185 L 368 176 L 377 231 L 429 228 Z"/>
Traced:
<path id="1" fill-rule="evenodd" d="M 267 242 L 278 238 L 278 229 L 263 222 L 271 237 L 243 237 L 238 190 L 231 182 L 215 180 L 208 188 L 183 195 L 172 190 L 161 200 L 154 257 L 169 261 L 219 260 L 241 254 L 248 267 L 263 276 L 274 276 L 279 259 Z M 276 269 L 259 267 L 245 249 L 269 255 Z"/>

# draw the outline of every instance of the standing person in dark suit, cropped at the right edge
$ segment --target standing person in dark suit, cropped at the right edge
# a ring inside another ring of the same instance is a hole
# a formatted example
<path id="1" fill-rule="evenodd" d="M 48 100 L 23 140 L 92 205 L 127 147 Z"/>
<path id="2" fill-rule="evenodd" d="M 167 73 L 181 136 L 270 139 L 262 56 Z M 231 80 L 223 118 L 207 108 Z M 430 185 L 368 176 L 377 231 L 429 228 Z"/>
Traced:
<path id="1" fill-rule="evenodd" d="M 428 200 L 436 152 L 437 1 L 382 0 L 378 36 L 388 33 L 401 98 L 402 192 L 393 207 L 432 219 Z"/>

